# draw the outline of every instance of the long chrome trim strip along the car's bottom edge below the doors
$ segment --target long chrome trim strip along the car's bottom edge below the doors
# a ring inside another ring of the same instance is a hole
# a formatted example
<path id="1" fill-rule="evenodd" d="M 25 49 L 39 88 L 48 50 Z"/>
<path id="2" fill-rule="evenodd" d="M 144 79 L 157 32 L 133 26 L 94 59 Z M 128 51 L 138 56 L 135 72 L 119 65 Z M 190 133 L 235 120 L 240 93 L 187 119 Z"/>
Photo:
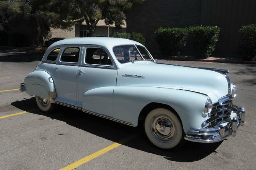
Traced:
<path id="1" fill-rule="evenodd" d="M 122 121 L 122 120 L 119 120 L 119 119 L 115 119 L 115 118 L 112 118 L 110 116 L 106 116 L 106 115 L 103 115 L 103 114 L 100 114 L 100 113 L 96 113 L 96 112 L 91 112 L 89 110 L 86 110 L 86 109 L 83 109 L 83 108 L 80 108 L 80 107 L 77 107 L 77 106 L 74 106 L 72 104 L 66 104 L 64 102 L 58 102 L 58 101 L 55 101 L 56 104 L 60 104 L 60 105 L 63 105 L 63 106 L 67 106 L 67 107 L 70 107 L 70 108 L 74 108 L 74 109 L 77 109 L 77 110 L 81 110 L 83 112 L 86 112 L 88 114 L 93 114 L 95 116 L 99 116 L 99 117 L 102 117 L 102 118 L 106 118 L 108 120 L 112 120 L 114 122 L 119 122 L 119 123 L 122 123 L 122 124 L 126 124 L 126 125 L 129 125 L 129 126 L 133 126 L 132 123 L 130 122 L 125 122 L 125 121 Z"/>

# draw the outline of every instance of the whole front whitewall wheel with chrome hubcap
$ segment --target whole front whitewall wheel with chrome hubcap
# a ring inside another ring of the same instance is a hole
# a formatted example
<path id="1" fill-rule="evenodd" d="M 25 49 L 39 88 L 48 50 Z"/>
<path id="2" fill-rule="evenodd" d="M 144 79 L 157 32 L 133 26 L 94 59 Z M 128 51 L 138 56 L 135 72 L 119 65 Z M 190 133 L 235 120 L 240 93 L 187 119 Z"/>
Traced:
<path id="1" fill-rule="evenodd" d="M 144 128 L 148 139 L 159 148 L 174 148 L 183 141 L 180 120 L 165 108 L 150 111 L 146 116 Z"/>

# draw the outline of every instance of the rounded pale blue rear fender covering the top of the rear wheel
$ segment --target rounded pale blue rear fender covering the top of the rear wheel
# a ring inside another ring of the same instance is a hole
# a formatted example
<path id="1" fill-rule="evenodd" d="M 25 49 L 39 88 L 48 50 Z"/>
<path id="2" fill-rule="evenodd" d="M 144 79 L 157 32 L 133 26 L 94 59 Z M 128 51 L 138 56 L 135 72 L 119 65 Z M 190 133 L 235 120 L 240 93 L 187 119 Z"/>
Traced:
<path id="1" fill-rule="evenodd" d="M 55 98 L 52 77 L 44 70 L 35 70 L 29 73 L 24 79 L 24 87 L 25 92 L 30 96 L 41 96 L 47 99 L 50 99 L 49 96 Z"/>

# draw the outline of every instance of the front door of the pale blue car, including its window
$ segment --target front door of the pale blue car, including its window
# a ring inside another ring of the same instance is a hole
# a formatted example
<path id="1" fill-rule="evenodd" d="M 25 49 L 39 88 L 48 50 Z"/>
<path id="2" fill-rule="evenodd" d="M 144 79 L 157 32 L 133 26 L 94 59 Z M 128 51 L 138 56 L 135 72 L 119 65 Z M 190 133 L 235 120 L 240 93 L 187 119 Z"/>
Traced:
<path id="1" fill-rule="evenodd" d="M 117 68 L 106 49 L 88 47 L 78 70 L 78 107 L 113 116 L 113 90 Z"/>

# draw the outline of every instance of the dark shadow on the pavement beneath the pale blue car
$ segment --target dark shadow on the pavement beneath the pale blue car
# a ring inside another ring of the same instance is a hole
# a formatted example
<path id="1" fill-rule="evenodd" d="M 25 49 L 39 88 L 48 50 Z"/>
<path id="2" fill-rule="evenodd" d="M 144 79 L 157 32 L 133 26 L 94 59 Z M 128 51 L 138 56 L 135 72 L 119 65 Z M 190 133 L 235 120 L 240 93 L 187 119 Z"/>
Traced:
<path id="1" fill-rule="evenodd" d="M 70 126 L 74 126 L 113 142 L 120 142 L 129 136 L 135 135 L 135 137 L 122 144 L 137 150 L 160 155 L 167 160 L 176 162 L 194 162 L 201 160 L 216 152 L 215 150 L 221 144 L 221 142 L 214 144 L 201 144 L 187 141 L 182 148 L 175 150 L 162 150 L 150 143 L 141 127 L 134 128 L 60 105 L 56 106 L 53 113 L 46 114 L 39 109 L 34 109 L 37 108 L 34 97 L 12 102 L 12 105 L 20 110 L 24 110 L 32 114 L 47 116 L 52 120 L 66 122 Z"/>

